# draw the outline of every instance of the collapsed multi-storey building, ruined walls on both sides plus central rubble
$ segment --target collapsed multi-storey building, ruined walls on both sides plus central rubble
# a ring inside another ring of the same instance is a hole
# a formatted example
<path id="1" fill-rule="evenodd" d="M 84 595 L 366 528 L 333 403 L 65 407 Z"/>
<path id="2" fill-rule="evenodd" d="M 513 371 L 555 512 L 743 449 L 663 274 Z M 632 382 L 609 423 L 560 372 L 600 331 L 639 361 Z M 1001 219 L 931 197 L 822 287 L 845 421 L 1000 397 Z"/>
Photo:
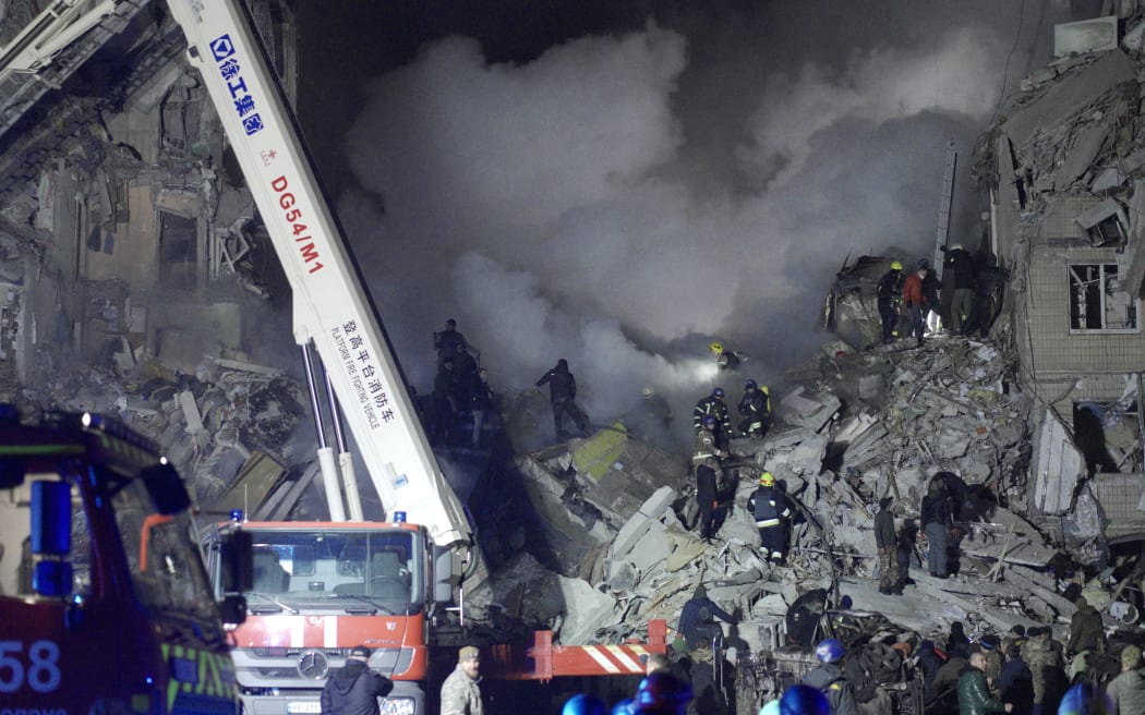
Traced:
<path id="1" fill-rule="evenodd" d="M 118 414 L 158 440 L 207 515 L 321 518 L 313 444 L 295 429 L 309 419 L 305 390 L 266 319 L 276 287 L 262 271 L 275 260 L 182 37 L 144 5 L 117 5 L 49 73 L 5 76 L 5 398 Z M 291 87 L 289 7 L 252 5 Z M 971 633 L 1060 630 L 1069 582 L 1110 629 L 1136 625 L 1145 564 L 1123 545 L 1145 537 L 1145 11 L 1127 2 L 1119 15 L 1087 34 L 1112 24 L 1112 46 L 1061 30 L 1071 51 L 1027 79 L 976 150 L 992 208 L 977 248 L 1009 276 L 990 337 L 872 348 L 890 259 L 845 271 L 832 293 L 839 340 L 788 372 L 763 440 L 733 443 L 739 480 L 714 543 L 694 531 L 688 460 L 623 422 L 527 452 L 515 430 L 543 423 L 547 405 L 520 396 L 491 453 L 442 454 L 452 474 L 477 474 L 469 506 L 485 559 L 467 607 L 490 637 L 544 627 L 570 644 L 640 638 L 653 619 L 674 626 L 703 583 L 739 615 L 728 643 L 743 690 L 763 698 L 775 683 L 756 666 L 774 658 L 757 656 L 783 652 L 789 610 L 815 589 L 859 604 L 836 611 L 858 623 L 848 644 L 955 620 Z M 113 77 L 85 64 L 100 53 Z M 784 566 L 767 563 L 745 509 L 763 469 L 799 507 Z M 917 518 L 939 471 L 965 482 L 973 507 L 960 577 L 931 579 L 919 553 L 914 587 L 879 594 L 875 505 L 890 495 L 900 522 Z M 16 578 L 10 564 L 0 586 Z"/>

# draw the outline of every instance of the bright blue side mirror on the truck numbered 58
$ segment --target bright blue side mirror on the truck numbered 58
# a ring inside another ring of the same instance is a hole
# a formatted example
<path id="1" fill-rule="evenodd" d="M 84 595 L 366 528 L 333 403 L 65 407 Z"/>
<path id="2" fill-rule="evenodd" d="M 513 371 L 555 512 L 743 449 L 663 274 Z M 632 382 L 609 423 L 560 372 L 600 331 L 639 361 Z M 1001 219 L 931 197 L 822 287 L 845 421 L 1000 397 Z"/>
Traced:
<path id="1" fill-rule="evenodd" d="M 72 589 L 71 485 L 66 482 L 32 483 L 32 554 L 40 557 L 32 569 L 32 590 L 62 597 Z"/>

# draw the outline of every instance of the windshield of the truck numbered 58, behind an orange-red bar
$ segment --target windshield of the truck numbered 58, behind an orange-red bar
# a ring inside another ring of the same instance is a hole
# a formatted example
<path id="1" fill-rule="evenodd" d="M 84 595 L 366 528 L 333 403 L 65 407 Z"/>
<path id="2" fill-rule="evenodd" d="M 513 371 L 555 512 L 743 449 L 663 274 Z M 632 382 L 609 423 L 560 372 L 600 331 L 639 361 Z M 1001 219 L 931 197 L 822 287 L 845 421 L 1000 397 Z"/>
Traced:
<path id="1" fill-rule="evenodd" d="M 140 479 L 123 483 L 111 503 L 140 603 L 151 611 L 218 620 L 188 514 L 158 514 Z"/>

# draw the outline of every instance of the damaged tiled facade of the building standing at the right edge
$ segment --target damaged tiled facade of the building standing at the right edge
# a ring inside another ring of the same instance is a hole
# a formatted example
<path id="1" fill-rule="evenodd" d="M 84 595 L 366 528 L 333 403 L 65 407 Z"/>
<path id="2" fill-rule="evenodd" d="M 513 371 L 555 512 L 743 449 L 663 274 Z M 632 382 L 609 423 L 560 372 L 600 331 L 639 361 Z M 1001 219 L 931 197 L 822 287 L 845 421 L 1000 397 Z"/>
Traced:
<path id="1" fill-rule="evenodd" d="M 1035 396 L 1030 516 L 1101 562 L 1107 542 L 1145 535 L 1145 23 L 1122 5 L 1124 17 L 1058 27 L 1060 56 L 1003 105 L 977 157 L 990 248 L 1012 277 L 1020 379 Z M 1110 42 L 1119 21 L 1126 32 Z M 1087 37 L 1104 43 L 1066 51 Z"/>

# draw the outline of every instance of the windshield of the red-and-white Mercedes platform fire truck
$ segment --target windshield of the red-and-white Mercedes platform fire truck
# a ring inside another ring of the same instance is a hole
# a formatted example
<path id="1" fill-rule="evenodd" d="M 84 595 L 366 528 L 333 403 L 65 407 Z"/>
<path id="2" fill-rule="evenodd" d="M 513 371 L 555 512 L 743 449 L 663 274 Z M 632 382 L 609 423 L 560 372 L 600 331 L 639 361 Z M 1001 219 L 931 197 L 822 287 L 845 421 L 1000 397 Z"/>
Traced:
<path id="1" fill-rule="evenodd" d="M 252 610 L 361 607 L 396 612 L 421 597 L 421 551 L 403 529 L 251 529 Z"/>

